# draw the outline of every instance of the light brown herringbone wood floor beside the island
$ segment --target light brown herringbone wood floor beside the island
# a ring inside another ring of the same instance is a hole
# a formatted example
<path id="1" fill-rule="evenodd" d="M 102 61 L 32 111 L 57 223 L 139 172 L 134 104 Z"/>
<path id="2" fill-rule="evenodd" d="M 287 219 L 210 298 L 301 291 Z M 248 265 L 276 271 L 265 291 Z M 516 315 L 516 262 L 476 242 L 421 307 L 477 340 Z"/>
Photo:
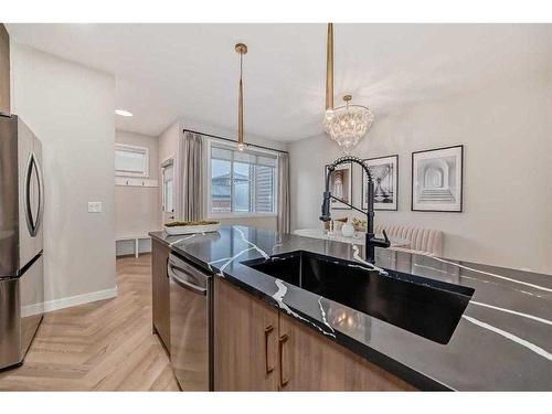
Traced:
<path id="1" fill-rule="evenodd" d="M 0 372 L 0 390 L 177 391 L 151 333 L 150 274 L 150 255 L 118 258 L 117 298 L 46 314 L 23 365 Z"/>

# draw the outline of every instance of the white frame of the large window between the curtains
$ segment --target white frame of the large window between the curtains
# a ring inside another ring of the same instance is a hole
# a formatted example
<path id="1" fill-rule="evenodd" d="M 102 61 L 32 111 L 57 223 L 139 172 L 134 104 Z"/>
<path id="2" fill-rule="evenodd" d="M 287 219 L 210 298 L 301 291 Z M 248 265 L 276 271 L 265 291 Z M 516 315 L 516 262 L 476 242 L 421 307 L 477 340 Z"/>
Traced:
<path id="1" fill-rule="evenodd" d="M 211 198 L 211 149 L 213 147 L 216 147 L 216 148 L 222 148 L 222 149 L 227 149 L 227 150 L 231 150 L 231 151 L 237 151 L 237 145 L 234 145 L 234 144 L 230 144 L 230 142 L 226 142 L 226 141 L 222 141 L 220 139 L 216 139 L 216 138 L 209 138 L 206 140 L 206 151 L 205 151 L 205 158 L 206 158 L 206 162 L 205 162 L 205 166 L 206 166 L 206 171 L 205 171 L 205 188 L 206 188 L 206 201 L 205 201 L 205 205 L 206 205 L 206 217 L 208 219 L 254 219 L 254 217 L 277 217 L 278 216 L 278 153 L 276 151 L 269 151 L 269 150 L 265 150 L 265 149 L 262 149 L 262 148 L 255 148 L 255 151 L 256 153 L 258 155 L 267 155 L 267 156 L 270 156 L 270 157 L 275 157 L 276 158 L 276 166 L 274 167 L 274 189 L 273 189 L 273 200 L 274 200 L 274 211 L 273 212 L 254 212 L 254 213 L 251 213 L 251 212 L 247 212 L 247 213 L 241 213 L 241 212 L 234 212 L 234 211 L 230 211 L 230 212 L 224 212 L 224 213 L 213 213 L 212 212 L 212 198 Z M 247 152 L 247 149 L 245 150 L 245 152 Z M 236 161 L 236 162 L 240 162 L 240 161 Z M 231 160 L 231 168 L 230 168 L 230 171 L 231 171 L 231 209 L 233 210 L 234 209 L 234 185 L 233 185 L 233 173 L 234 173 L 234 155 L 232 153 L 232 160 Z"/>

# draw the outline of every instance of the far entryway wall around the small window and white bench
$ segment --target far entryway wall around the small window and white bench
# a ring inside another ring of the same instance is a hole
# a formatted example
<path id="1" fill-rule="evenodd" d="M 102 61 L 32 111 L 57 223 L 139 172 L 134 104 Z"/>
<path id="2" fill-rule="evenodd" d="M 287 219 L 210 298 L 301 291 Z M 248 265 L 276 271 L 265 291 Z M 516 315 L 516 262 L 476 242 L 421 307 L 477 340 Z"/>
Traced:
<path id="1" fill-rule="evenodd" d="M 117 130 L 115 142 L 148 148 L 149 179 L 159 180 L 159 140 L 156 137 Z M 141 234 L 158 230 L 160 214 L 159 187 L 115 185 L 115 233 L 117 235 Z M 144 241 L 140 252 L 150 250 L 150 243 Z M 134 242 L 117 243 L 117 255 L 132 252 Z"/>

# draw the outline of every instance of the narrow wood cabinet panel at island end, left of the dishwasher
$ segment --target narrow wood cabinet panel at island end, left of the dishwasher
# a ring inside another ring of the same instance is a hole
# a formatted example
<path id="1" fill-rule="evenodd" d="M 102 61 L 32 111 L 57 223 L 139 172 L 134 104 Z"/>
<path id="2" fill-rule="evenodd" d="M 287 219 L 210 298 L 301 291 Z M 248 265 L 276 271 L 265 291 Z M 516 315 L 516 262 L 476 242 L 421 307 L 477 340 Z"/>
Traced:
<path id="1" fill-rule="evenodd" d="M 152 238 L 151 252 L 153 332 L 159 335 L 167 352 L 170 352 L 170 289 L 167 274 L 170 248 Z"/>

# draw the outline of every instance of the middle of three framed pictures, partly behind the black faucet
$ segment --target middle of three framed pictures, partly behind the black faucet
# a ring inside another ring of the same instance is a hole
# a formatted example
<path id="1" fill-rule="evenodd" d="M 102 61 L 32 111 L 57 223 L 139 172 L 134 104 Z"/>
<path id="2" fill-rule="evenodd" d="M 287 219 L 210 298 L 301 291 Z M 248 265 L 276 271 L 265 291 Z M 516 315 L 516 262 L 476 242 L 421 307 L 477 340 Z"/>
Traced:
<path id="1" fill-rule="evenodd" d="M 399 156 L 363 160 L 374 182 L 374 210 L 399 210 Z M 368 210 L 368 177 L 362 171 L 362 210 Z"/>

